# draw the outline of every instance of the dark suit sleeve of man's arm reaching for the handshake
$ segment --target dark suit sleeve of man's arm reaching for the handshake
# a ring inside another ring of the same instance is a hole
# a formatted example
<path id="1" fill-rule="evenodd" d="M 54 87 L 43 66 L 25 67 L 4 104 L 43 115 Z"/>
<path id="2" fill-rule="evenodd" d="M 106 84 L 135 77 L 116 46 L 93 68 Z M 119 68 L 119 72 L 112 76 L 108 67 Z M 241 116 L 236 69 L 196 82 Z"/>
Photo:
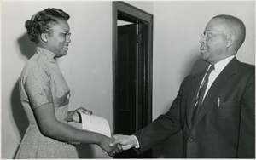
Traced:
<path id="1" fill-rule="evenodd" d="M 183 80 L 180 86 L 178 95 L 172 102 L 172 106 L 166 114 L 160 115 L 152 123 L 144 129 L 139 130 L 134 135 L 139 141 L 138 154 L 148 151 L 150 148 L 157 146 L 160 142 L 172 137 L 182 129 L 180 105 L 183 96 L 183 86 L 186 83 L 188 77 Z"/>

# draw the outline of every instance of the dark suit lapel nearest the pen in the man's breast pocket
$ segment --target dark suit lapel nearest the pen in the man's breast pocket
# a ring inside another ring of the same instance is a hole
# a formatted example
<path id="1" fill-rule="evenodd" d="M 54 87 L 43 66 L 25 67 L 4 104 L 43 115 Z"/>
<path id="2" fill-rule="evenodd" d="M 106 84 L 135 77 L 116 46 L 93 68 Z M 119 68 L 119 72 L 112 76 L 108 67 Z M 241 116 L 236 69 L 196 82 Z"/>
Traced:
<path id="1" fill-rule="evenodd" d="M 240 62 L 236 60 L 235 57 L 233 60 L 230 61 L 227 66 L 225 66 L 224 70 L 221 71 L 221 73 L 212 83 L 212 86 L 207 92 L 207 95 L 201 105 L 201 109 L 198 112 L 197 117 L 195 117 L 195 123 L 192 124 L 192 129 L 195 129 L 196 125 L 201 121 L 202 117 L 204 117 L 204 115 L 212 106 L 214 100 L 217 100 L 217 97 L 221 90 L 224 89 L 224 87 L 230 82 L 231 76 L 236 73 L 239 63 Z"/>

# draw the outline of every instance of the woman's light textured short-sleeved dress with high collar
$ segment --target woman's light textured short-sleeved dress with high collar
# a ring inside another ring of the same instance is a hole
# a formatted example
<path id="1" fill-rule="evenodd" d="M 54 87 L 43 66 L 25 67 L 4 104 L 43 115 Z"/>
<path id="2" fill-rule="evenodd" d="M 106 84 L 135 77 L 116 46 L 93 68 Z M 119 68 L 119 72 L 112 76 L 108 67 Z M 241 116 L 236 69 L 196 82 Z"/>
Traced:
<path id="1" fill-rule="evenodd" d="M 67 123 L 70 91 L 54 57 L 49 50 L 37 47 L 21 72 L 20 99 L 29 126 L 15 158 L 79 158 L 75 143 L 61 142 L 41 134 L 33 114 L 38 107 L 53 103 L 56 119 Z"/>

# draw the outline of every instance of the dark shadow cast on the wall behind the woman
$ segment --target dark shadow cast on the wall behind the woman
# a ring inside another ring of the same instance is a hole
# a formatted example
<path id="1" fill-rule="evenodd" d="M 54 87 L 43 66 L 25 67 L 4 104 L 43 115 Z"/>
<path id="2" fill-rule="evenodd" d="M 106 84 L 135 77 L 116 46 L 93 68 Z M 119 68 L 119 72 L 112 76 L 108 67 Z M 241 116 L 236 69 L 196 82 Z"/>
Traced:
<path id="1" fill-rule="evenodd" d="M 26 61 L 29 60 L 32 55 L 34 54 L 36 44 L 32 43 L 27 36 L 27 34 L 23 34 L 17 41 L 20 52 L 23 56 L 26 57 Z M 19 130 L 20 138 L 21 140 L 24 137 L 24 134 L 26 133 L 26 129 L 28 127 L 28 119 L 26 117 L 26 112 L 20 102 L 20 91 L 19 91 L 19 80 L 15 83 L 15 87 L 11 94 L 11 108 L 13 117 L 15 120 L 15 124 Z M 78 152 L 79 152 L 79 158 L 91 158 L 94 157 L 93 152 L 91 150 L 91 146 L 89 145 L 78 145 L 76 146 Z M 19 147 L 17 147 L 15 151 L 18 151 Z M 14 156 L 15 158 L 15 156 Z"/>

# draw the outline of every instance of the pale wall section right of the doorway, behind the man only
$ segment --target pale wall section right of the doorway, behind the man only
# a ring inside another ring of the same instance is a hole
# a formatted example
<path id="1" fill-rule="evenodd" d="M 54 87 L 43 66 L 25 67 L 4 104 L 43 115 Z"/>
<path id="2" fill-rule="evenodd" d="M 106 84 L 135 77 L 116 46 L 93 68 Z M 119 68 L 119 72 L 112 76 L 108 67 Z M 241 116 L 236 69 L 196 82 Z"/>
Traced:
<path id="1" fill-rule="evenodd" d="M 183 78 L 201 70 L 200 37 L 217 14 L 231 14 L 247 26 L 247 37 L 238 60 L 255 64 L 255 3 L 253 1 L 154 2 L 153 119 L 168 111 Z M 196 63 L 195 63 L 196 62 Z M 178 139 L 180 137 L 175 137 Z M 172 140 L 174 140 L 172 139 Z M 175 142 L 154 149 L 154 157 L 177 155 Z"/>

